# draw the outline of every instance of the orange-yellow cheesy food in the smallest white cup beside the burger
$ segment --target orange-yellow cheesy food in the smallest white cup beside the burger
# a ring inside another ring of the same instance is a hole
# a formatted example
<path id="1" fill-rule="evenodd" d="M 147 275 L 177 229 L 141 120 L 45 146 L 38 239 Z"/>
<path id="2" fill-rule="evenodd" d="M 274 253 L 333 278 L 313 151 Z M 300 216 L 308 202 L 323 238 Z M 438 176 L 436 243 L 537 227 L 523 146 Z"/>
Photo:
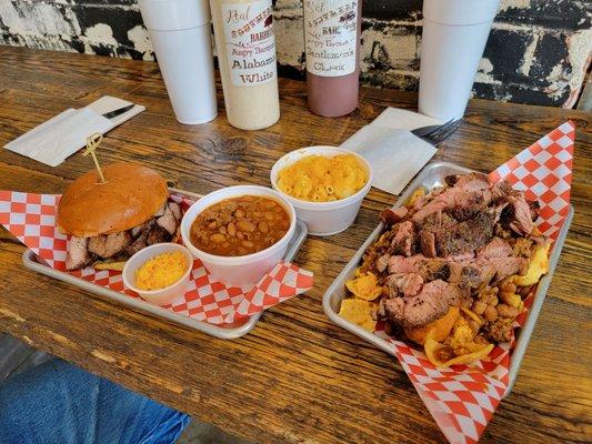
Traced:
<path id="1" fill-rule="evenodd" d="M 136 286 L 147 291 L 164 289 L 179 281 L 187 269 L 187 258 L 180 251 L 159 254 L 138 269 Z"/>

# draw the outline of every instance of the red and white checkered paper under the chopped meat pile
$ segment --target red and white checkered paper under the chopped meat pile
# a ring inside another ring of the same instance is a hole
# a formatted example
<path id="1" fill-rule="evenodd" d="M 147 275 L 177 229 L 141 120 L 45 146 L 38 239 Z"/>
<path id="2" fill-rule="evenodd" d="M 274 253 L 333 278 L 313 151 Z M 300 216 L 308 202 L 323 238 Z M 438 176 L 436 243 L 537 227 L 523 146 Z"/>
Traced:
<path id="1" fill-rule="evenodd" d="M 569 212 L 575 128 L 572 122 L 532 144 L 490 174 L 508 180 L 541 203 L 539 229 L 555 240 Z M 532 304 L 532 295 L 525 305 Z M 525 322 L 522 313 L 515 323 Z M 499 344 L 476 365 L 437 369 L 425 354 L 388 336 L 381 324 L 374 332 L 393 345 L 394 354 L 420 397 L 451 443 L 476 443 L 509 386 L 512 344 Z"/>

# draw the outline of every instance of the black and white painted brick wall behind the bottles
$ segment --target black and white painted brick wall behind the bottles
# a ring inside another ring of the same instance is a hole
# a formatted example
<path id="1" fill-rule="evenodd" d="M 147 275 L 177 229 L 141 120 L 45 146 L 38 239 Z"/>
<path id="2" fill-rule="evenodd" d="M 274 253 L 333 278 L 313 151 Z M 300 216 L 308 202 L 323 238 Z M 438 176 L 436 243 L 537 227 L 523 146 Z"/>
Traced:
<path id="1" fill-rule="evenodd" d="M 417 90 L 421 0 L 364 0 L 362 81 Z M 475 97 L 573 108 L 592 52 L 591 0 L 501 0 Z M 280 73 L 302 78 L 300 0 L 275 1 Z M 153 60 L 136 0 L 0 0 L 0 43 Z"/>

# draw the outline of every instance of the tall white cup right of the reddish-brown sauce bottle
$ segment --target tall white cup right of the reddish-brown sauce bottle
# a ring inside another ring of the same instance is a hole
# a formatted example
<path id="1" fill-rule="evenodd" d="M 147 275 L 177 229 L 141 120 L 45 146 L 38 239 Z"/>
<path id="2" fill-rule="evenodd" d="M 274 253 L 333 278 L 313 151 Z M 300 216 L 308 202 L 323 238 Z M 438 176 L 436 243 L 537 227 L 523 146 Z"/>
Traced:
<path id="1" fill-rule="evenodd" d="M 419 111 L 464 114 L 500 0 L 424 0 Z"/>

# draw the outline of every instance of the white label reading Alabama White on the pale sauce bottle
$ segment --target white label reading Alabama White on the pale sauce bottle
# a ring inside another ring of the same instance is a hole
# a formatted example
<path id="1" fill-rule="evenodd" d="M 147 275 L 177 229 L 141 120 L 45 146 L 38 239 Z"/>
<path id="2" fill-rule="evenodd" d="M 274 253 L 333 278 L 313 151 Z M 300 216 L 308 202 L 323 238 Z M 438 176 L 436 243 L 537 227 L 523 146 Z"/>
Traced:
<path id="1" fill-rule="evenodd" d="M 252 87 L 278 75 L 271 0 L 222 4 L 230 80 Z"/>

